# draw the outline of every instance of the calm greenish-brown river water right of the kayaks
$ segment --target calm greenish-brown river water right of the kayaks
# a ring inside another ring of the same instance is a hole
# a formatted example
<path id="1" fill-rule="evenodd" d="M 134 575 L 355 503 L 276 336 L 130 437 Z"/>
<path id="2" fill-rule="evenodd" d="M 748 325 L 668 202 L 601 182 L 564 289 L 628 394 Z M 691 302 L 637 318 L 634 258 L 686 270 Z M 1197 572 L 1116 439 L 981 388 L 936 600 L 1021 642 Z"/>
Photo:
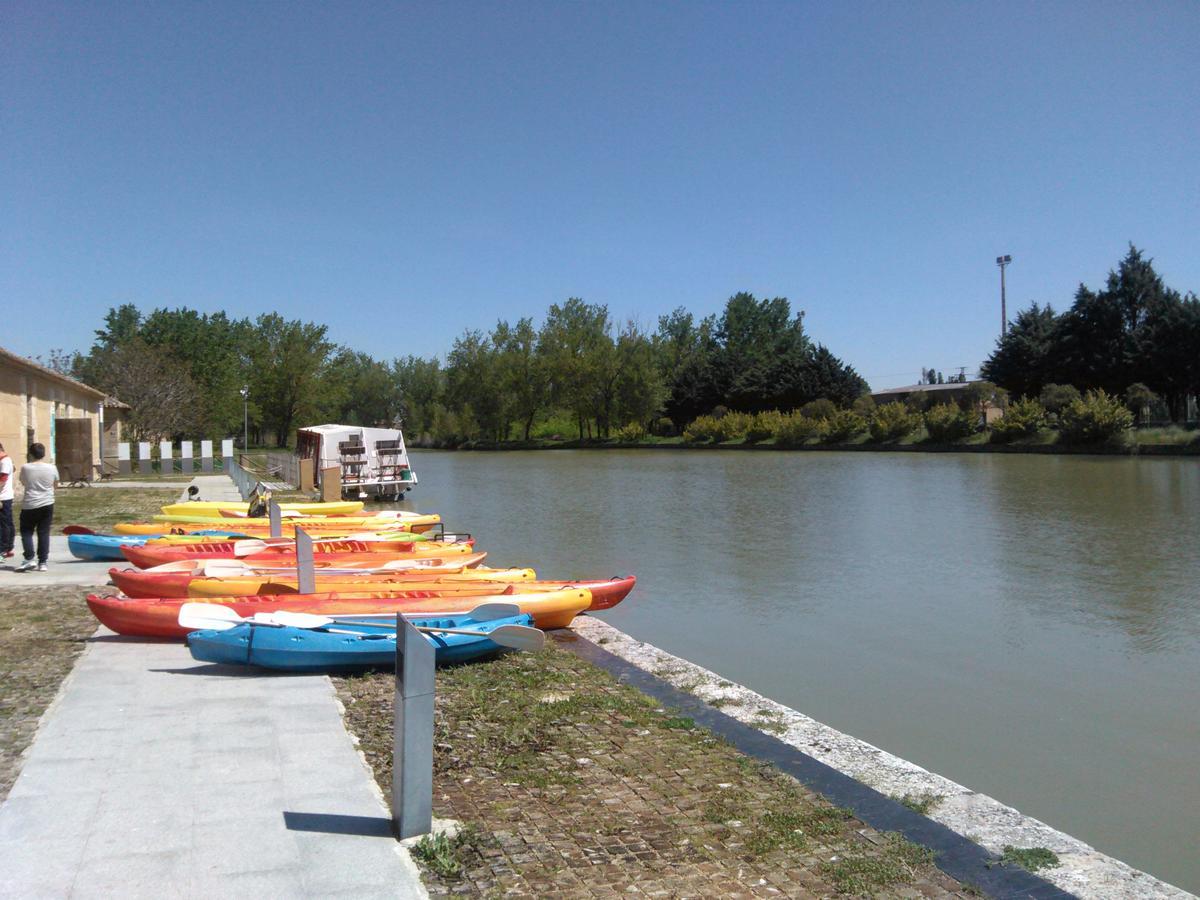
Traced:
<path id="1" fill-rule="evenodd" d="M 418 451 L 493 565 L 1200 890 L 1200 462 Z"/>

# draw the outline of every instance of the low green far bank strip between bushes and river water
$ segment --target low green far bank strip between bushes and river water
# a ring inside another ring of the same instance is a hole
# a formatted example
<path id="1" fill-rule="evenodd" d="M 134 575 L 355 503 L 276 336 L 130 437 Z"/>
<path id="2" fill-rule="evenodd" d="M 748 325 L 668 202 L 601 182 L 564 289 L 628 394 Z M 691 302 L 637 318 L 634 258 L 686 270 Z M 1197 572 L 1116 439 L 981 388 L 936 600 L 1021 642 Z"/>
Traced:
<path id="1" fill-rule="evenodd" d="M 854 440 L 824 443 L 816 439 L 800 444 L 778 444 L 774 440 L 748 443 L 728 440 L 722 443 L 689 443 L 683 438 L 652 437 L 644 440 L 472 440 L 456 446 L 432 446 L 410 443 L 413 449 L 427 450 L 780 450 L 780 451 L 863 451 L 863 452 L 917 452 L 917 454 L 1042 454 L 1063 456 L 1200 456 L 1200 431 L 1177 431 L 1171 440 L 1138 439 L 1136 433 L 1127 439 L 1102 444 L 1062 444 L 1057 432 L 1046 430 L 1032 438 L 1010 443 L 991 443 L 986 434 L 973 434 L 954 443 L 937 443 L 916 436 L 900 440 L 871 440 L 859 436 Z"/>

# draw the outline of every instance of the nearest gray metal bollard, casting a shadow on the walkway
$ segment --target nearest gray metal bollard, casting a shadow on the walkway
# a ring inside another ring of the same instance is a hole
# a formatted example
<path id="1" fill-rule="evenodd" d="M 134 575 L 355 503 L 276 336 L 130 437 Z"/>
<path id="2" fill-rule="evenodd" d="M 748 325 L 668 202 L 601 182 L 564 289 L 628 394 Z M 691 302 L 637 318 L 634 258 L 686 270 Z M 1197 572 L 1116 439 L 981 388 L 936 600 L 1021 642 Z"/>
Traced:
<path id="1" fill-rule="evenodd" d="M 433 644 L 396 613 L 391 821 L 401 840 L 433 829 Z"/>

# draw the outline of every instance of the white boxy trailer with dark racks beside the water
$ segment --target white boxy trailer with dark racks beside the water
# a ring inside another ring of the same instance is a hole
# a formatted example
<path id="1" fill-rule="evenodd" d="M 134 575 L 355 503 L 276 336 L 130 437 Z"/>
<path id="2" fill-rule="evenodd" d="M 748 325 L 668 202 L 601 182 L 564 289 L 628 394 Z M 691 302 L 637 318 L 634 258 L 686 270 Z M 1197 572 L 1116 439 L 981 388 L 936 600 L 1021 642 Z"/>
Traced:
<path id="1" fill-rule="evenodd" d="M 314 461 L 318 488 L 324 469 L 340 469 L 343 498 L 398 500 L 416 485 L 400 428 L 312 425 L 296 432 L 296 455 Z"/>

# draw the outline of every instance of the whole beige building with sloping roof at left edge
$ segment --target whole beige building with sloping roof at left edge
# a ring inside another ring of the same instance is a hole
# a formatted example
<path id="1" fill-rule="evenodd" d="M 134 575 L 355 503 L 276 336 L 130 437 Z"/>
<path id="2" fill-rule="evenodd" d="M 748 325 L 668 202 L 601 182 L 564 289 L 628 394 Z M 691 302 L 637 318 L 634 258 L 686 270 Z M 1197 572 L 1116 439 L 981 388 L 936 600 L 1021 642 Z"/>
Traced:
<path id="1" fill-rule="evenodd" d="M 115 428 L 101 432 L 106 401 L 114 404 Z M 65 481 L 90 481 L 101 451 L 120 438 L 120 419 L 128 407 L 104 392 L 0 347 L 0 443 L 19 467 L 25 449 L 46 444 L 47 458 Z M 121 414 L 118 413 L 121 410 Z"/>

